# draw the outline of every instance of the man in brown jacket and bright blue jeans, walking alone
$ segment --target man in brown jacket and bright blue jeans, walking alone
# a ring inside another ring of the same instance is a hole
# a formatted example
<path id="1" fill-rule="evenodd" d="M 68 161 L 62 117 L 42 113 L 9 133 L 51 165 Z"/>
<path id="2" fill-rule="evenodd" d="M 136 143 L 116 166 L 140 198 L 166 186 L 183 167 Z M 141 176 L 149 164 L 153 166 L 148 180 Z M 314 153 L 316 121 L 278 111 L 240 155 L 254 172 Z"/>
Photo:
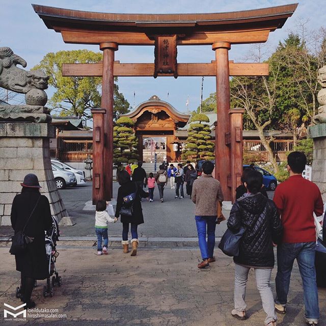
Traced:
<path id="1" fill-rule="evenodd" d="M 198 232 L 198 242 L 203 261 L 198 268 L 209 266 L 215 261 L 215 227 L 218 202 L 223 202 L 223 193 L 220 181 L 212 177 L 214 165 L 205 161 L 202 165 L 203 173 L 193 185 L 192 201 L 196 204 L 195 220 Z M 207 231 L 206 231 L 207 229 Z M 206 242 L 207 233 L 207 242 Z"/>

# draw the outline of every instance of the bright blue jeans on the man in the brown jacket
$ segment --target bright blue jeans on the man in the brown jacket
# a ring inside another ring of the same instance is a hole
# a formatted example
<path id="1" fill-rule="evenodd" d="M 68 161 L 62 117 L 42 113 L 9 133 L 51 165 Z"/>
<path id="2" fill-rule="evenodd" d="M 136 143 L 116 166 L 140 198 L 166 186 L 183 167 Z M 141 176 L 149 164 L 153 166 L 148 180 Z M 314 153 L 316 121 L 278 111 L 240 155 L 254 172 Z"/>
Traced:
<path id="1" fill-rule="evenodd" d="M 199 249 L 203 260 L 213 257 L 215 246 L 216 216 L 195 216 Z M 207 226 L 207 242 L 206 242 Z"/>

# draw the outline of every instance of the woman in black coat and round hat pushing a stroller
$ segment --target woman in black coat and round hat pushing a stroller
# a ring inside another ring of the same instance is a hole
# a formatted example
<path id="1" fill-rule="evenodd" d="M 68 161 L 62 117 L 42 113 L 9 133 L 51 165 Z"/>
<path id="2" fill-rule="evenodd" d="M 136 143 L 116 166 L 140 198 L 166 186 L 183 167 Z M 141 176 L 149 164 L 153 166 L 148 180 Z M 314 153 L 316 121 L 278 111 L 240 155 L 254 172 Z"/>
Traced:
<path id="1" fill-rule="evenodd" d="M 31 301 L 31 295 L 35 280 L 44 280 L 49 276 L 44 236 L 45 231 L 51 228 L 52 219 L 49 201 L 40 194 L 37 176 L 26 175 L 21 185 L 21 194 L 16 195 L 12 203 L 11 226 L 16 234 L 31 216 L 24 233 L 34 240 L 27 245 L 26 252 L 15 255 L 15 259 L 16 270 L 21 273 L 21 300 L 27 308 L 33 308 L 35 303 Z"/>

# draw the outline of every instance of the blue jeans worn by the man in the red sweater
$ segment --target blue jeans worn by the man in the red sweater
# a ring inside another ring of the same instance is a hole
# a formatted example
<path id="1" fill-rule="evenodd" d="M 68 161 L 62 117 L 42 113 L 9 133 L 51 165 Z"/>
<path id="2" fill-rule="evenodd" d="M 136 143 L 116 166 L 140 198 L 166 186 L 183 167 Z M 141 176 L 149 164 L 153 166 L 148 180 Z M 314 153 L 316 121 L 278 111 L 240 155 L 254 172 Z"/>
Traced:
<path id="1" fill-rule="evenodd" d="M 275 302 L 285 306 L 294 259 L 299 266 L 304 290 L 306 318 L 319 319 L 318 291 L 315 270 L 315 242 L 282 243 L 277 247 Z"/>

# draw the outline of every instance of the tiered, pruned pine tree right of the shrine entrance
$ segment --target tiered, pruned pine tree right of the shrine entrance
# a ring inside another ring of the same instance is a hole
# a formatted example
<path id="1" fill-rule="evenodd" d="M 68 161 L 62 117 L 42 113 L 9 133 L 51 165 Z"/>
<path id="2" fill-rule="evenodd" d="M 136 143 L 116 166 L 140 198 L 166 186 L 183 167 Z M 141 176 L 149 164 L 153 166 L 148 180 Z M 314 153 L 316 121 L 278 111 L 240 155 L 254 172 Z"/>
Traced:
<path id="1" fill-rule="evenodd" d="M 207 123 L 209 118 L 203 114 L 195 114 L 188 129 L 186 151 L 183 153 L 185 159 L 214 160 L 214 143 L 210 142 L 210 129 Z"/>

